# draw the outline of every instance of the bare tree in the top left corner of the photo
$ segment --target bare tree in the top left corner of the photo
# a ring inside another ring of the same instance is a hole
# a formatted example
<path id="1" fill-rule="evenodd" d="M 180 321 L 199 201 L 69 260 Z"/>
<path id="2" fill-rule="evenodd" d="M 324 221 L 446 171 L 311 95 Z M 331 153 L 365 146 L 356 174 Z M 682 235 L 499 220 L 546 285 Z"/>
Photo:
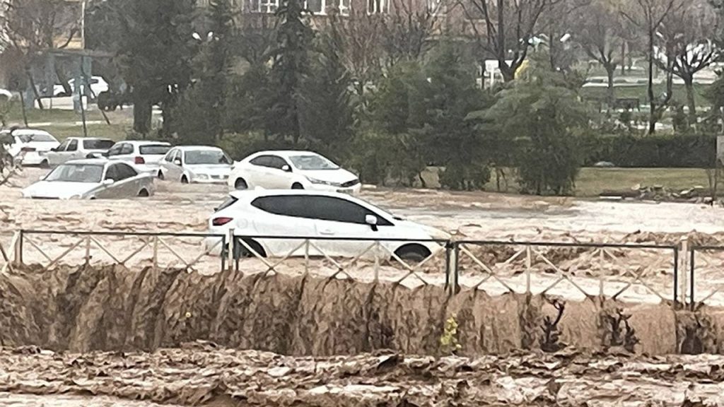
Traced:
<path id="1" fill-rule="evenodd" d="M 42 109 L 33 62 L 46 51 L 70 45 L 79 31 L 80 14 L 71 12 L 64 0 L 3 0 L 0 7 L 4 41 L 22 55 L 25 75 Z"/>

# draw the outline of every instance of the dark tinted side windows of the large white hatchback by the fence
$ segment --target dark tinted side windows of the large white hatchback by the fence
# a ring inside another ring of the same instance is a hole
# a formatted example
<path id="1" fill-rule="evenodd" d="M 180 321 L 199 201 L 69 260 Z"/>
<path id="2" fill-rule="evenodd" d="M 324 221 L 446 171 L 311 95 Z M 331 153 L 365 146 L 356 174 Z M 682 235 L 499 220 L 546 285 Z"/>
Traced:
<path id="1" fill-rule="evenodd" d="M 331 196 L 263 196 L 256 198 L 251 205 L 270 214 L 286 217 L 301 217 L 358 225 L 365 225 L 367 215 L 374 215 L 377 218 L 377 225 L 392 225 L 387 219 L 363 206 Z"/>

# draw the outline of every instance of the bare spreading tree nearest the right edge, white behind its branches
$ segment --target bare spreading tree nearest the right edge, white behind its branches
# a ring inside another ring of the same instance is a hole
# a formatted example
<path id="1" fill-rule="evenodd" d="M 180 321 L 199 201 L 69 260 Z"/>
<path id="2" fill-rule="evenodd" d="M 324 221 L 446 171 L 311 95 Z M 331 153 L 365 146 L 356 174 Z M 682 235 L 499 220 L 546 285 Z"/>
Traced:
<path id="1" fill-rule="evenodd" d="M 709 67 L 720 55 L 720 49 L 713 41 L 717 26 L 717 15 L 710 3 L 698 0 L 671 12 L 657 31 L 663 46 L 655 51 L 663 51 L 654 54 L 654 62 L 683 80 L 689 116 L 694 123 L 694 75 Z"/>

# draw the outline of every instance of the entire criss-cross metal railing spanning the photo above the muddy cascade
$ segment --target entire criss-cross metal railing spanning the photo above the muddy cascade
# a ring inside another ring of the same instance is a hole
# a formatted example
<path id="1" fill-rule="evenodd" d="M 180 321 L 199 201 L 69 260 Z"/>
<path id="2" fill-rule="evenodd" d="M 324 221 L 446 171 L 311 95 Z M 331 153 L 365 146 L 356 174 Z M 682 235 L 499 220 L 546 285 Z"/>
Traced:
<path id="1" fill-rule="evenodd" d="M 265 256 L 259 242 L 276 246 L 275 253 Z M 429 252 L 411 261 L 394 250 L 407 244 Z M 0 244 L 0 254 L 1 272 L 29 264 L 46 269 L 120 264 L 204 273 L 313 273 L 442 285 L 450 293 L 466 288 L 492 295 L 605 297 L 669 303 L 676 309 L 724 305 L 724 246 L 695 246 L 686 239 L 657 245 L 20 230 L 9 244 Z"/>

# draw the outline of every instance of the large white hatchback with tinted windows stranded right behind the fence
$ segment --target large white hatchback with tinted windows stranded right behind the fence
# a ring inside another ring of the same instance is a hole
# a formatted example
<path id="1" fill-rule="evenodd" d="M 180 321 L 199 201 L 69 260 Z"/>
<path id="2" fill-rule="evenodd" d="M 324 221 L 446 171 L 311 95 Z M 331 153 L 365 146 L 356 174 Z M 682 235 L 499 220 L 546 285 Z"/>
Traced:
<path id="1" fill-rule="evenodd" d="M 300 246 L 303 238 L 311 238 L 316 248 L 310 246 L 309 256 L 375 256 L 371 246 L 379 240 L 379 256 L 395 253 L 405 261 L 422 261 L 443 250 L 443 241 L 450 238 L 348 194 L 310 190 L 234 191 L 209 219 L 210 234 L 227 235 L 232 229 L 268 257 L 305 256 Z M 219 253 L 220 240 L 208 238 L 207 250 Z"/>

